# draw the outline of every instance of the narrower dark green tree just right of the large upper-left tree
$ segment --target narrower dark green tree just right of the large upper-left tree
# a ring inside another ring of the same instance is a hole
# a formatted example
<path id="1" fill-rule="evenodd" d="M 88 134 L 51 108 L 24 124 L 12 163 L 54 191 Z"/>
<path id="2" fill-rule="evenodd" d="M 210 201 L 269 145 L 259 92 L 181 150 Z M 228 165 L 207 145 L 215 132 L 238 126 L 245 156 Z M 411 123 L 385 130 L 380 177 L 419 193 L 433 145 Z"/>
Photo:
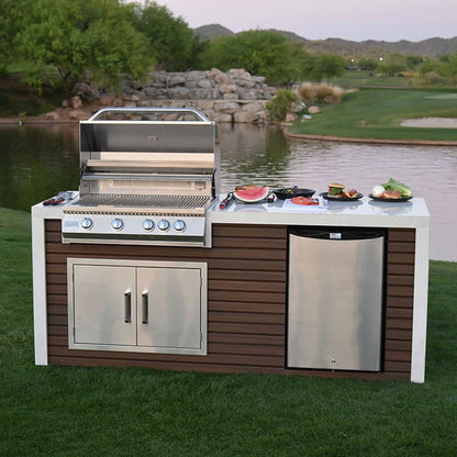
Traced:
<path id="1" fill-rule="evenodd" d="M 201 51 L 200 38 L 181 18 L 174 18 L 155 1 L 146 1 L 140 12 L 138 30 L 149 41 L 149 52 L 157 66 L 168 71 L 182 71 L 196 65 Z"/>

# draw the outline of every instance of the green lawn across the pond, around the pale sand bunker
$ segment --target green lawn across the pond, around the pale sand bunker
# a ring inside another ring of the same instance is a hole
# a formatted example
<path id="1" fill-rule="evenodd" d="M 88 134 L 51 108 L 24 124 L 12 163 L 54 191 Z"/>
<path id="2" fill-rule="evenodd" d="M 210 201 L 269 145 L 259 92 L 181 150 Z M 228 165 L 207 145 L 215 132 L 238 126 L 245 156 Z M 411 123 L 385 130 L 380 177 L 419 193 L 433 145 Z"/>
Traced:
<path id="1" fill-rule="evenodd" d="M 457 129 L 404 127 L 416 118 L 457 118 L 457 89 L 360 88 L 342 103 L 324 104 L 290 131 L 358 138 L 457 141 Z"/>

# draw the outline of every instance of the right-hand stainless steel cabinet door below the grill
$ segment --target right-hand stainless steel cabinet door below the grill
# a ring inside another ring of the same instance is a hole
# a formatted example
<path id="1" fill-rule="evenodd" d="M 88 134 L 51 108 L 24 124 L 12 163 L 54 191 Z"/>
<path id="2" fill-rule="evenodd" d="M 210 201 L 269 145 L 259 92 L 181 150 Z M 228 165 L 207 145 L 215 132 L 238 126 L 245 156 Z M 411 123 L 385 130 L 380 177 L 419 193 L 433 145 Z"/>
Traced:
<path id="1" fill-rule="evenodd" d="M 138 345 L 201 347 L 201 271 L 138 268 Z"/>

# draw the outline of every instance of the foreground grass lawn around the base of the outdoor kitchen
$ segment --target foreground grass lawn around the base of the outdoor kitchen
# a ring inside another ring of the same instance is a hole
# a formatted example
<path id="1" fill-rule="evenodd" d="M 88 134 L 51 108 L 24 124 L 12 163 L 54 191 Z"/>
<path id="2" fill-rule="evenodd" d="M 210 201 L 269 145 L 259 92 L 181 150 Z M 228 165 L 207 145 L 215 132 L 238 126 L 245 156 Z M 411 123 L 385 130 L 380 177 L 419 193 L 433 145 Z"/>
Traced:
<path id="1" fill-rule="evenodd" d="M 29 220 L 0 209 L 0 456 L 457 455 L 457 264 L 431 264 L 424 384 L 36 367 Z"/>

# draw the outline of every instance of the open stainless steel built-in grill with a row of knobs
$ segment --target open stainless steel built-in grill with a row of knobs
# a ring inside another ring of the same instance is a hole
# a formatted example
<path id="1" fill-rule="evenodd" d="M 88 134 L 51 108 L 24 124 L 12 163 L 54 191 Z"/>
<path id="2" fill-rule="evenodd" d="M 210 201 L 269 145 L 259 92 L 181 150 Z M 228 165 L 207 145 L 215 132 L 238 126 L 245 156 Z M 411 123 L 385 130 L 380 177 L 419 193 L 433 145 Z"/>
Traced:
<path id="1" fill-rule="evenodd" d="M 192 109 L 104 109 L 80 123 L 79 199 L 64 243 L 203 246 L 215 124 Z"/>

